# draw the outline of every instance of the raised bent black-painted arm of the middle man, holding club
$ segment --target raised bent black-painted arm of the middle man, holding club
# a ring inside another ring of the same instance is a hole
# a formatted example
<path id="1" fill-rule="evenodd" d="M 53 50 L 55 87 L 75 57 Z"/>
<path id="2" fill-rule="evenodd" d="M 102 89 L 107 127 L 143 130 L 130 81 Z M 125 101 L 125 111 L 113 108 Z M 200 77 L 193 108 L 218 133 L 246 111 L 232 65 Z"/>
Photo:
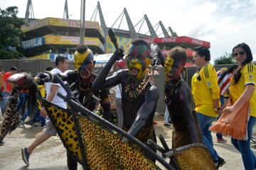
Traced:
<path id="1" fill-rule="evenodd" d="M 123 57 L 123 50 L 121 50 L 121 51 L 122 51 L 121 54 L 119 54 L 119 53 L 117 53 L 117 51 L 115 51 L 114 55 L 112 55 L 112 57 L 110 57 L 110 60 L 107 62 L 105 67 L 103 67 L 100 74 L 97 75 L 97 78 L 93 82 L 92 90 L 100 91 L 101 89 L 106 89 L 110 86 L 115 85 L 114 80 L 115 81 L 117 80 L 117 75 L 112 76 L 110 79 L 108 79 L 108 81 L 106 81 L 106 78 L 107 78 L 107 74 L 110 72 L 110 69 L 111 69 L 112 65 L 114 64 L 114 62 L 116 62 L 121 57 Z"/>

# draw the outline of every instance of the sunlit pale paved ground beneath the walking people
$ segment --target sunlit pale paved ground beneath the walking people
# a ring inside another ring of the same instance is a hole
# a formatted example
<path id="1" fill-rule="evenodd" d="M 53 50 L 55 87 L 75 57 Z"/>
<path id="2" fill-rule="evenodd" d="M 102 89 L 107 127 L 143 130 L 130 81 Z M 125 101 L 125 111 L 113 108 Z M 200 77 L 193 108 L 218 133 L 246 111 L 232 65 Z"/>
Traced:
<path id="1" fill-rule="evenodd" d="M 171 127 L 164 126 L 164 115 L 156 115 L 158 125 L 155 125 L 156 134 L 164 135 L 164 138 L 171 146 Z M 11 135 L 7 135 L 4 139 L 6 145 L 0 146 L 0 169 L 34 169 L 46 170 L 68 169 L 66 166 L 66 153 L 60 139 L 58 137 L 51 137 L 47 142 L 38 146 L 30 157 L 30 166 L 26 166 L 21 158 L 21 147 L 28 146 L 36 137 L 41 128 L 17 128 Z M 244 169 L 242 166 L 242 159 L 240 154 L 231 145 L 230 140 L 226 144 L 218 144 L 214 137 L 214 146 L 218 154 L 226 159 L 227 163 L 220 169 Z M 159 142 L 158 142 L 159 143 Z M 255 145 L 252 144 L 252 149 L 255 152 Z M 82 166 L 79 166 L 82 169 Z"/>

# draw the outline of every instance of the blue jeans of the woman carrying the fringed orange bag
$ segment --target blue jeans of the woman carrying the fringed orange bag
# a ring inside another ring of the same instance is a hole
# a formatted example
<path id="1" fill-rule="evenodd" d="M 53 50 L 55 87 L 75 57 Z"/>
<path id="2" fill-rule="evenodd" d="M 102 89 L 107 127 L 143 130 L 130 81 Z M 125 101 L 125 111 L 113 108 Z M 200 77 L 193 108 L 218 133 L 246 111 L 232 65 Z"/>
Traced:
<path id="1" fill-rule="evenodd" d="M 242 154 L 242 162 L 245 166 L 245 170 L 251 170 L 256 168 L 256 158 L 250 149 L 250 138 L 252 137 L 252 128 L 256 124 L 256 118 L 250 116 L 247 125 L 247 140 L 235 140 L 231 137 L 231 142 L 236 149 Z"/>

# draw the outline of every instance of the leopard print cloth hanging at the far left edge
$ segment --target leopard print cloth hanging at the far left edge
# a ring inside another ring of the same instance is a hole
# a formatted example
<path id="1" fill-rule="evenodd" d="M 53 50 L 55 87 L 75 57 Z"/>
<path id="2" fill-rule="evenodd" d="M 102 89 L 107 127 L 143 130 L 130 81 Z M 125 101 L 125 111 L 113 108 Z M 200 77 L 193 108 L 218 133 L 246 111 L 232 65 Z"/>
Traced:
<path id="1" fill-rule="evenodd" d="M 6 106 L 6 111 L 4 112 L 4 120 L 1 123 L 1 134 L 0 141 L 4 140 L 4 137 L 8 132 L 15 130 L 18 126 L 18 111 L 17 111 L 17 101 L 18 101 L 18 90 L 13 89 L 9 102 Z"/>

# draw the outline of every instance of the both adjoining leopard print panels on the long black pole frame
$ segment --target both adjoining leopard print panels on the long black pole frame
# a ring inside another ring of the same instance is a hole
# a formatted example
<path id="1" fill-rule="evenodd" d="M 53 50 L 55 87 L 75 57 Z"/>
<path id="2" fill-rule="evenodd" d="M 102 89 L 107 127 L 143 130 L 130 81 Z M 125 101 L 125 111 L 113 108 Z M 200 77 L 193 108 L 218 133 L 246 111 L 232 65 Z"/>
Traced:
<path id="1" fill-rule="evenodd" d="M 81 163 L 82 157 L 73 115 L 50 105 L 47 101 L 42 103 L 64 146 Z M 123 142 L 120 137 L 102 125 L 92 122 L 85 116 L 78 116 L 78 123 L 90 169 L 159 169 L 141 152 Z"/>

